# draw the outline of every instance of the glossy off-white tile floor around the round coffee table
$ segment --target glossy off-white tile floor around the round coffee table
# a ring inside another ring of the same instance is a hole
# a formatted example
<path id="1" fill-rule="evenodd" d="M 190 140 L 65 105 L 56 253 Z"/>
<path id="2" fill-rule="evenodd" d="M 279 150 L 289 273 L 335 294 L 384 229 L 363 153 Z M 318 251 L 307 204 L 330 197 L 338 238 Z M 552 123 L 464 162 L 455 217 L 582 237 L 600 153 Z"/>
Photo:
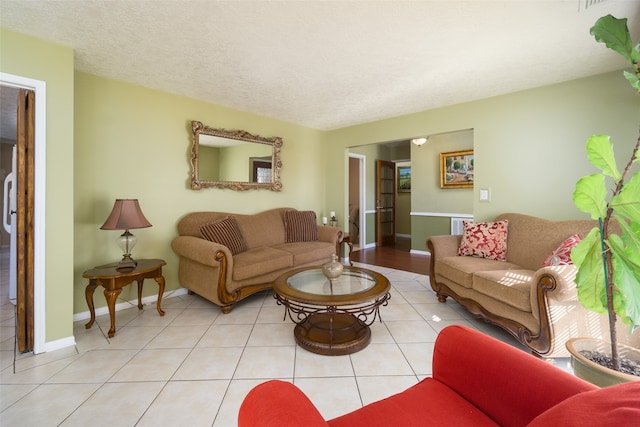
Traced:
<path id="1" fill-rule="evenodd" d="M 371 344 L 348 356 L 320 356 L 296 346 L 293 323 L 272 292 L 222 314 L 194 295 L 116 313 L 85 330 L 76 346 L 17 355 L 13 306 L 2 298 L 0 424 L 6 426 L 235 426 L 238 408 L 255 385 L 279 378 L 298 385 L 326 418 L 406 389 L 431 374 L 438 331 L 465 324 L 522 348 L 501 329 L 472 318 L 455 302 L 438 303 L 428 276 L 356 264 L 392 284 Z"/>

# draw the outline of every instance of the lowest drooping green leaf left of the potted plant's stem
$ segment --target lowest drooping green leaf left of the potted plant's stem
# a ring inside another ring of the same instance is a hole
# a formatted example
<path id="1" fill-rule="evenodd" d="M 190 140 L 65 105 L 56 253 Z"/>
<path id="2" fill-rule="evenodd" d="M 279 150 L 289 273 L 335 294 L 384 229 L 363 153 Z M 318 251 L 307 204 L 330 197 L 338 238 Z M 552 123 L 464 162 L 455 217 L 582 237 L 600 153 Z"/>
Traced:
<path id="1" fill-rule="evenodd" d="M 571 260 L 578 267 L 575 282 L 578 300 L 588 310 L 607 312 L 600 231 L 594 228 L 571 250 Z"/>

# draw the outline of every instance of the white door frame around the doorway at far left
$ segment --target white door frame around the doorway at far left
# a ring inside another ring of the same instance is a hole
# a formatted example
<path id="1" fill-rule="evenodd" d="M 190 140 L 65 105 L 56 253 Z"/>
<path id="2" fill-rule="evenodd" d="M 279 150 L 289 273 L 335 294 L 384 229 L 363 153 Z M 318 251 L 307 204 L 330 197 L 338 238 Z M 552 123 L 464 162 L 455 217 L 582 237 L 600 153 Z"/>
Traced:
<path id="1" fill-rule="evenodd" d="M 46 351 L 45 319 L 45 209 L 47 166 L 47 83 L 0 72 L 0 85 L 35 92 L 35 175 L 33 218 L 33 353 Z"/>

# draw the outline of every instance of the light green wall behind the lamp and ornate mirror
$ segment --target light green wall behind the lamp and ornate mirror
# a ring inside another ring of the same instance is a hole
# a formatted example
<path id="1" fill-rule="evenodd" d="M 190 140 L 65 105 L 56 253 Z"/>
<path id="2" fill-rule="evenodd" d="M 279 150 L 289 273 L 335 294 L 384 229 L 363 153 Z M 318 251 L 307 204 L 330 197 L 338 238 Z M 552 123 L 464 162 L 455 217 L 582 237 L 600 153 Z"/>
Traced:
<path id="1" fill-rule="evenodd" d="M 291 206 L 323 215 L 320 131 L 80 72 L 75 76 L 75 103 L 75 313 L 87 310 L 82 272 L 121 257 L 114 243 L 119 233 L 99 229 L 116 198 L 140 200 L 153 226 L 134 230 L 138 245 L 133 255 L 165 259 L 168 290 L 180 286 L 178 257 L 170 245 L 179 218 L 188 212 L 255 213 Z M 191 190 L 191 120 L 282 137 L 282 192 Z M 134 299 L 132 288 L 125 288 L 121 298 Z M 145 295 L 154 292 L 153 282 L 145 286 Z M 96 306 L 104 306 L 98 294 Z"/>

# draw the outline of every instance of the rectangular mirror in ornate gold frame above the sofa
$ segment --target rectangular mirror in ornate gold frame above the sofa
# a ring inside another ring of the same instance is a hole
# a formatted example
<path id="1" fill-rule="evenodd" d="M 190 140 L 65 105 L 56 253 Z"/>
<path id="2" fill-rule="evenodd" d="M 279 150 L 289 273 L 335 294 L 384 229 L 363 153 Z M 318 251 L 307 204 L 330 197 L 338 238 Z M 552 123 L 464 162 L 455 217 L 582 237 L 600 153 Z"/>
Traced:
<path id="1" fill-rule="evenodd" d="M 281 191 L 282 138 L 191 122 L 191 188 Z"/>

